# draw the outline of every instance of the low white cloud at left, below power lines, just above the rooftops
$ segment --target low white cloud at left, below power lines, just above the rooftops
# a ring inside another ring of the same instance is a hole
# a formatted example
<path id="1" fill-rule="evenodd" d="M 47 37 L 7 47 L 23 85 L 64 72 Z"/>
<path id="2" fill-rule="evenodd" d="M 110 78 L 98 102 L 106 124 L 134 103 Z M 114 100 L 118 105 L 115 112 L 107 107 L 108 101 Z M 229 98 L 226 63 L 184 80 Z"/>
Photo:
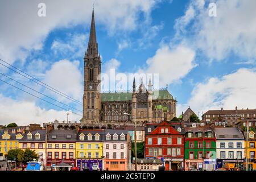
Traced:
<path id="1" fill-rule="evenodd" d="M 28 125 L 29 123 L 51 122 L 55 119 L 63 121 L 66 119 L 66 111 L 46 110 L 36 106 L 35 102 L 18 101 L 0 94 L 0 125 L 7 125 L 15 122 L 19 126 Z M 80 115 L 71 113 L 71 121 L 79 121 Z"/>

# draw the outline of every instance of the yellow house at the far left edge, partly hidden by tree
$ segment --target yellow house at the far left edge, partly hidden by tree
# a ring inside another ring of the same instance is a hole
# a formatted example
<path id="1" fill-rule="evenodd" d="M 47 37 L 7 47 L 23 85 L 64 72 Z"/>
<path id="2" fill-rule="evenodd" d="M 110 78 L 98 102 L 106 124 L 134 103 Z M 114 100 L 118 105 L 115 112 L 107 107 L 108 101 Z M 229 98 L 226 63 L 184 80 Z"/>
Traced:
<path id="1" fill-rule="evenodd" d="M 9 150 L 19 148 L 19 140 L 23 138 L 23 134 L 4 130 L 0 135 L 0 160 L 3 160 Z"/>

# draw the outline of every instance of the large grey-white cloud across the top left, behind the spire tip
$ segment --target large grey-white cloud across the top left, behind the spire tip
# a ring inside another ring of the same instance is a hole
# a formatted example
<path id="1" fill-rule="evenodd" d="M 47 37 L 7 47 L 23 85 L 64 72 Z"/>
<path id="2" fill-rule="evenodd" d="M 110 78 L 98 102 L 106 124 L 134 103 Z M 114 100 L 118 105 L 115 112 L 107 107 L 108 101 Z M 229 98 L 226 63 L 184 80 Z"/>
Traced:
<path id="1" fill-rule="evenodd" d="M 46 17 L 38 16 L 38 4 L 46 3 Z M 55 28 L 90 22 L 92 3 L 97 24 L 111 34 L 137 27 L 138 14 L 147 19 L 158 0 L 147 1 L 1 1 L 0 57 L 14 63 L 24 61 L 32 49 L 42 48 L 44 39 Z M 18 9 L 16 7 L 19 7 Z"/>

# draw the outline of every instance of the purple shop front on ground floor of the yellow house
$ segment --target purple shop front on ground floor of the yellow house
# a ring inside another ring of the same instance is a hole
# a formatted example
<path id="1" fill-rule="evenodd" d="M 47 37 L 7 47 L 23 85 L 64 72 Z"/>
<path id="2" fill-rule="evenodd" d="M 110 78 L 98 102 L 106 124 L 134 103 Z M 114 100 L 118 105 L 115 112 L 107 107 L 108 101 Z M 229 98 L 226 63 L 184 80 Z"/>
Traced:
<path id="1" fill-rule="evenodd" d="M 97 170 L 102 170 L 102 159 L 77 159 L 76 166 L 82 171 L 82 170 L 90 170 L 92 171 L 95 167 L 95 165 L 98 167 Z M 94 169 L 96 170 L 96 169 Z"/>

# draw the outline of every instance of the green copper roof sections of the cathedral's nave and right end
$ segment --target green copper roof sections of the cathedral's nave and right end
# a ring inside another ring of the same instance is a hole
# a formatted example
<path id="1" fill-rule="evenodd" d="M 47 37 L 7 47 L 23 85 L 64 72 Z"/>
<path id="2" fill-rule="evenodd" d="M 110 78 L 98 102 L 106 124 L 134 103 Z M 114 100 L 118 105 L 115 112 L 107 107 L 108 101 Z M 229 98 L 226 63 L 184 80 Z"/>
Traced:
<path id="1" fill-rule="evenodd" d="M 168 90 L 155 90 L 152 96 L 152 100 L 164 100 L 164 99 L 173 99 L 172 95 Z M 110 101 L 131 101 L 132 93 L 101 93 L 101 102 L 110 102 Z"/>

